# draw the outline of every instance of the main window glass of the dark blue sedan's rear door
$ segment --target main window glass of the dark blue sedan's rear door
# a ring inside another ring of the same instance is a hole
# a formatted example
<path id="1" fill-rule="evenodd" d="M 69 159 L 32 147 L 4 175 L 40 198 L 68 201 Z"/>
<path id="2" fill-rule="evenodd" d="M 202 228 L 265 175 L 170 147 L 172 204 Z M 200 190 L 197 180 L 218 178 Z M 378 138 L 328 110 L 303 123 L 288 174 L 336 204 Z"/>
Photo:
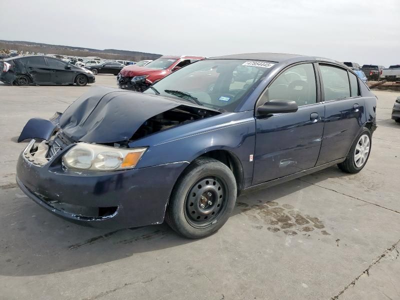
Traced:
<path id="1" fill-rule="evenodd" d="M 347 71 L 338 67 L 320 65 L 325 101 L 348 98 L 350 84 Z"/>

